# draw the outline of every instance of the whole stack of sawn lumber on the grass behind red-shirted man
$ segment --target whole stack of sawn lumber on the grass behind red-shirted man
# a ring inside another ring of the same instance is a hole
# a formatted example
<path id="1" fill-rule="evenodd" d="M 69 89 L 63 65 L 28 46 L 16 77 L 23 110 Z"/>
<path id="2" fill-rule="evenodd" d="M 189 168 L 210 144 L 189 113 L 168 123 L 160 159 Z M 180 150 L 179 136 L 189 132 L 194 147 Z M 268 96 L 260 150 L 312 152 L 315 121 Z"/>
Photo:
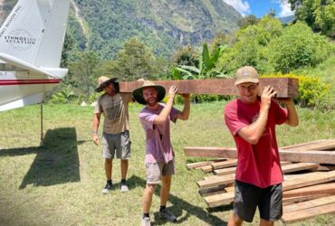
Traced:
<path id="1" fill-rule="evenodd" d="M 282 160 L 282 221 L 304 221 L 321 214 L 335 213 L 335 139 L 280 148 Z M 199 193 L 208 207 L 230 204 L 235 195 L 235 147 L 186 146 L 192 157 L 215 159 L 187 164 L 206 175 L 198 181 Z"/>

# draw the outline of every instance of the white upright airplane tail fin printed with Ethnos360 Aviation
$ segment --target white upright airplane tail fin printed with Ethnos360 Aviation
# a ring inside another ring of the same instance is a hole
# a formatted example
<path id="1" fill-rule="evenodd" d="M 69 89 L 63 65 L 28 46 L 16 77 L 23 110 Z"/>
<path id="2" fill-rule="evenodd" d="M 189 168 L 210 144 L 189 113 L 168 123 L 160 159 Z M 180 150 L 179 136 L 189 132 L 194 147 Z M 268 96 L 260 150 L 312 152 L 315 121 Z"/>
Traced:
<path id="1" fill-rule="evenodd" d="M 59 68 L 70 0 L 19 0 L 0 29 L 0 52 Z"/>

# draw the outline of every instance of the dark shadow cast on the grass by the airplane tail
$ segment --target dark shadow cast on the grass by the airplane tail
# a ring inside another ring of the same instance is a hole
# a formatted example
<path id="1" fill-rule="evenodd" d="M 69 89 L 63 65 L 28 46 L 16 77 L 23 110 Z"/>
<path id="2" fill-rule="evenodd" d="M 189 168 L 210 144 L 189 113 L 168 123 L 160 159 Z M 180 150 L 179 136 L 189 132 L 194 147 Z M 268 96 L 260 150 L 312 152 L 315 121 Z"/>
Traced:
<path id="1" fill-rule="evenodd" d="M 80 181 L 77 135 L 74 127 L 49 129 L 43 146 L 12 148 L 0 151 L 0 156 L 36 154 L 34 162 L 24 176 L 20 189 L 27 184 L 50 186 Z"/>

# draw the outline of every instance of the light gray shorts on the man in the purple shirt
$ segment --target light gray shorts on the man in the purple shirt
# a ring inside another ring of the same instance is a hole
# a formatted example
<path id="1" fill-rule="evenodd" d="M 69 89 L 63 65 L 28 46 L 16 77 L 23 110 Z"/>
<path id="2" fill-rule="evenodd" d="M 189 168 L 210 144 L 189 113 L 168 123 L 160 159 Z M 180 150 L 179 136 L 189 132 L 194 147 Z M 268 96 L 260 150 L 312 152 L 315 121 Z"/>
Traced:
<path id="1" fill-rule="evenodd" d="M 175 174 L 175 160 L 171 160 L 168 164 L 164 163 L 147 163 L 147 184 L 158 184 L 162 175 Z"/>

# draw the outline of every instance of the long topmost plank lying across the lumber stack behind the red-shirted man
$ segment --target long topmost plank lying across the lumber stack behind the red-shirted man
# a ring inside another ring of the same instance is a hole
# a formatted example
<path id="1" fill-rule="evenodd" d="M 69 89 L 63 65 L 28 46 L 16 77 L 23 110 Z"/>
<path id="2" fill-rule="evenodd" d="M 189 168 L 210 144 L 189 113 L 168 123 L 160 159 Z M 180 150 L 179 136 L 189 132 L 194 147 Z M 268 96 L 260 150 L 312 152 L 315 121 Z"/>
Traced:
<path id="1" fill-rule="evenodd" d="M 335 163 L 335 152 L 333 151 L 306 151 L 299 148 L 294 148 L 290 150 L 280 150 L 279 153 L 282 161 L 319 164 Z M 186 146 L 184 147 L 184 154 L 186 156 L 198 157 L 237 157 L 237 151 L 235 147 Z"/>

